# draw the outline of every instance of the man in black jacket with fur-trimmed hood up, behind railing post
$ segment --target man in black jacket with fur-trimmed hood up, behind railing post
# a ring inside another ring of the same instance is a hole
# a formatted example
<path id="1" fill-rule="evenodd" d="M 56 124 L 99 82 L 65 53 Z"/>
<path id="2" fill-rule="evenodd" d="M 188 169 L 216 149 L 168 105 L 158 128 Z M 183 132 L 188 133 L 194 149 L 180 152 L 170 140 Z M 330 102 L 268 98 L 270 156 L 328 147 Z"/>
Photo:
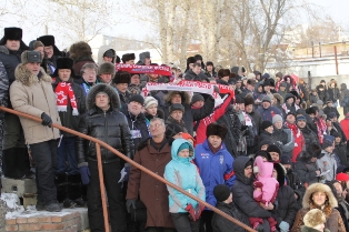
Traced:
<path id="1" fill-rule="evenodd" d="M 133 142 L 126 117 L 120 112 L 120 100 L 108 84 L 97 84 L 87 95 L 87 113 L 81 117 L 78 131 L 99 139 L 128 158 L 132 158 Z M 87 184 L 89 223 L 92 231 L 104 231 L 97 150 L 93 142 L 77 138 L 78 167 L 82 183 Z M 124 162 L 101 148 L 104 184 L 108 194 L 110 224 L 113 230 L 127 231 L 120 171 Z"/>

